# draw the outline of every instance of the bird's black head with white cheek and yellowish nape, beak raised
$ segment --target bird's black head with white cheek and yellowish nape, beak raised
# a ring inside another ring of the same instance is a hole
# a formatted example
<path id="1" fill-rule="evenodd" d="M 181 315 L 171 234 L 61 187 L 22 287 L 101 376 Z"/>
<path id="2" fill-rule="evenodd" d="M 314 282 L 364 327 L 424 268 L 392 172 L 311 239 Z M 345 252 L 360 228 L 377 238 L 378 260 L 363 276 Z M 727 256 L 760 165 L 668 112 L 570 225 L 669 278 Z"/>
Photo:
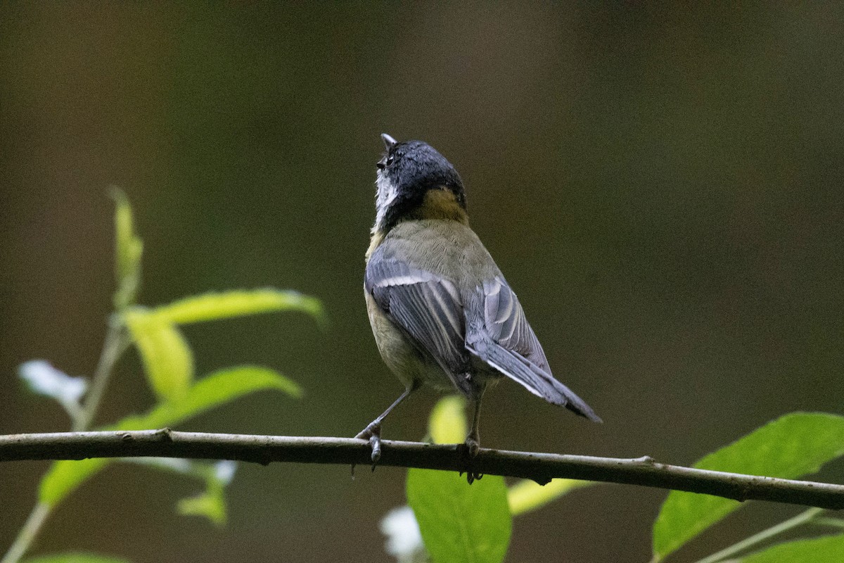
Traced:
<path id="1" fill-rule="evenodd" d="M 463 181 L 454 166 L 430 144 L 381 134 L 386 150 L 378 161 L 373 233 L 386 234 L 408 219 L 467 223 Z"/>

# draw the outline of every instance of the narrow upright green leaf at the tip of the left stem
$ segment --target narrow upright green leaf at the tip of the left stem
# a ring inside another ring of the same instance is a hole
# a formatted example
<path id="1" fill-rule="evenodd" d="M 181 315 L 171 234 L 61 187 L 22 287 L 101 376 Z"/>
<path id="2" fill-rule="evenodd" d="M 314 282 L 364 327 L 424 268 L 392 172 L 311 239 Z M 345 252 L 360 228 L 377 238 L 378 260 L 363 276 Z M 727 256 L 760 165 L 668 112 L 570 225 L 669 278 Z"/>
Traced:
<path id="1" fill-rule="evenodd" d="M 115 200 L 114 273 L 117 290 L 114 295 L 114 306 L 121 311 L 133 305 L 138 295 L 143 241 L 135 234 L 132 207 L 129 205 L 126 194 L 120 188 L 112 187 L 111 197 Z"/>

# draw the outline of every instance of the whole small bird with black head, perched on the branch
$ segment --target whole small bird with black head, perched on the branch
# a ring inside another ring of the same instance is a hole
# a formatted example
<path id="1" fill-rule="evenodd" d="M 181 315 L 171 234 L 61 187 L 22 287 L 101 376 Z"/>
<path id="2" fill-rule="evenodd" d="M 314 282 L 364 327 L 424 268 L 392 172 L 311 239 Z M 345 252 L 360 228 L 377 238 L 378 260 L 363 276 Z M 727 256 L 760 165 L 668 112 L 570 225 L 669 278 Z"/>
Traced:
<path id="1" fill-rule="evenodd" d="M 355 436 L 370 441 L 372 461 L 381 455 L 381 421 L 423 384 L 474 403 L 466 438 L 472 456 L 484 390 L 502 377 L 600 422 L 551 375 L 516 294 L 468 226 L 454 166 L 428 143 L 381 138 L 364 294 L 378 351 L 405 391 Z"/>

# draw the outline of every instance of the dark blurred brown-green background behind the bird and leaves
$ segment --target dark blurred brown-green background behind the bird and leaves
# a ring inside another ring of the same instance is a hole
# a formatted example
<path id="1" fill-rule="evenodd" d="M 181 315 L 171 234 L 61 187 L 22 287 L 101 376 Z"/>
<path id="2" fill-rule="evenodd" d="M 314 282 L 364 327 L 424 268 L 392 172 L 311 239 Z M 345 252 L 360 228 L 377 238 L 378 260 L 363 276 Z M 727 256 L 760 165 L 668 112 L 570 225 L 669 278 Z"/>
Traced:
<path id="1" fill-rule="evenodd" d="M 692 463 L 780 414 L 841 413 L 842 30 L 841 3 L 4 4 L 0 432 L 67 428 L 16 366 L 93 371 L 116 184 L 146 244 L 142 302 L 274 285 L 317 295 L 331 319 L 187 327 L 199 373 L 261 363 L 307 394 L 182 429 L 353 436 L 401 391 L 361 295 L 381 132 L 456 165 L 555 375 L 605 420 L 505 383 L 485 446 Z M 100 422 L 148 408 L 139 370 L 122 362 Z M 434 401 L 403 405 L 385 436 L 423 436 Z M 0 465 L 0 551 L 46 466 Z M 377 522 L 403 504 L 404 472 L 241 465 L 222 531 L 176 515 L 197 489 L 111 468 L 36 552 L 388 560 Z M 663 498 L 578 491 L 520 517 L 508 560 L 647 560 Z M 678 560 L 792 513 L 752 506 Z"/>

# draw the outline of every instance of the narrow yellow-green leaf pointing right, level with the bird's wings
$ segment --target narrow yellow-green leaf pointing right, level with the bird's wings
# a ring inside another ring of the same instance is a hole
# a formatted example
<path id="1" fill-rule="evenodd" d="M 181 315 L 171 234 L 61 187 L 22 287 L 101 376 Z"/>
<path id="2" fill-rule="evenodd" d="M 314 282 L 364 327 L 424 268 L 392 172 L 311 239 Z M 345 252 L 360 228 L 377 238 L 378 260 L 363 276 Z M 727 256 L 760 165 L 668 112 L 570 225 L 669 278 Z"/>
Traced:
<path id="1" fill-rule="evenodd" d="M 282 291 L 273 288 L 225 291 L 187 297 L 170 305 L 158 307 L 154 314 L 167 322 L 187 324 L 273 311 L 304 311 L 322 319 L 322 304 L 319 300 L 297 291 Z"/>

